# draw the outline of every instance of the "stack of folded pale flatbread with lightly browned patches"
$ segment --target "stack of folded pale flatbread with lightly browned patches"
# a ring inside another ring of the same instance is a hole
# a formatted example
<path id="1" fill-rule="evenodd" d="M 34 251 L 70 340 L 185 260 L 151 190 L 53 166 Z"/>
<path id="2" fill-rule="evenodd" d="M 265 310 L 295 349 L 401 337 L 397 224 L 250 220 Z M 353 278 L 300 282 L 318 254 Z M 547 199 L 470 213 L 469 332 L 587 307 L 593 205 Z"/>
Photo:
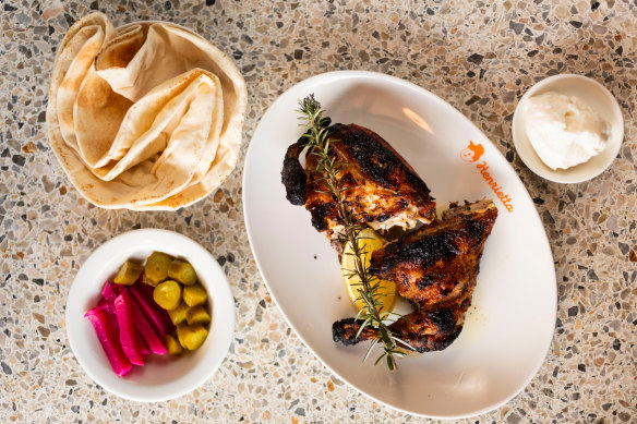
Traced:
<path id="1" fill-rule="evenodd" d="M 190 31 L 168 23 L 117 29 L 94 13 L 59 47 L 49 138 L 91 203 L 175 210 L 235 168 L 247 97 L 232 60 Z"/>

